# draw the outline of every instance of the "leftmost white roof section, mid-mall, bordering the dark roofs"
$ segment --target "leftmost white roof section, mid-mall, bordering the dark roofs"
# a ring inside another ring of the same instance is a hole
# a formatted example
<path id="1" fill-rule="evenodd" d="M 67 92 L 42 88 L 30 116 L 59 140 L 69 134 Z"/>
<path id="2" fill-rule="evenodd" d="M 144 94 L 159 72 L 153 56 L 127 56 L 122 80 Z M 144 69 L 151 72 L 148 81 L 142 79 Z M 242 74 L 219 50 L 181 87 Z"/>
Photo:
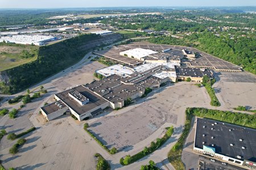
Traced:
<path id="1" fill-rule="evenodd" d="M 96 73 L 101 74 L 105 77 L 108 77 L 114 74 L 120 75 L 122 77 L 126 77 L 127 75 L 133 74 L 134 69 L 123 66 L 123 65 L 113 65 L 110 67 L 106 67 L 104 69 L 96 70 Z"/>

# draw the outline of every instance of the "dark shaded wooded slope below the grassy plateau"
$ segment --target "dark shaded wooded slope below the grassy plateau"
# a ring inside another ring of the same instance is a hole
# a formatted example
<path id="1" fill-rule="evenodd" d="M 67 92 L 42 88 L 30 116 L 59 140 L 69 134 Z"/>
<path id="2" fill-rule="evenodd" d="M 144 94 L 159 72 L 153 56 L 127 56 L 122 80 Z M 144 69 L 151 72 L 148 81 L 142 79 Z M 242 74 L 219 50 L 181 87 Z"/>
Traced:
<path id="1" fill-rule="evenodd" d="M 91 40 L 100 39 L 95 34 L 80 35 L 73 39 L 61 41 L 48 46 L 40 46 L 36 61 L 5 70 L 9 76 L 9 84 L 1 83 L 2 92 L 13 94 L 24 90 L 32 84 L 38 83 L 68 66 L 78 62 L 86 54 L 88 48 L 80 48 L 88 45 Z M 91 48 L 96 45 L 91 46 Z M 1 90 L 1 89 L 0 89 Z"/>

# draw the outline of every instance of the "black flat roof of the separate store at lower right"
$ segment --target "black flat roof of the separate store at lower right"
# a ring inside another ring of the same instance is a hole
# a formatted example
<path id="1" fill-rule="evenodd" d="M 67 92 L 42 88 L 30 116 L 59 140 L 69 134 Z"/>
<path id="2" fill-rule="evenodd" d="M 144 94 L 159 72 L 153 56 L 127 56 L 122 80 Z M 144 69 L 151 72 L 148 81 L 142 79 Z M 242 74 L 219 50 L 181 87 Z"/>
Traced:
<path id="1" fill-rule="evenodd" d="M 213 130 L 211 130 L 212 128 Z M 203 134 L 205 137 L 203 137 Z M 237 156 L 239 155 L 241 156 L 241 160 L 245 159 L 256 162 L 255 129 L 205 118 L 197 118 L 195 135 L 195 147 L 197 148 L 203 149 L 203 142 L 205 142 L 204 145 L 214 147 L 217 154 L 236 159 L 238 159 Z M 233 146 L 230 146 L 230 143 Z M 245 149 L 242 147 L 245 147 Z"/>

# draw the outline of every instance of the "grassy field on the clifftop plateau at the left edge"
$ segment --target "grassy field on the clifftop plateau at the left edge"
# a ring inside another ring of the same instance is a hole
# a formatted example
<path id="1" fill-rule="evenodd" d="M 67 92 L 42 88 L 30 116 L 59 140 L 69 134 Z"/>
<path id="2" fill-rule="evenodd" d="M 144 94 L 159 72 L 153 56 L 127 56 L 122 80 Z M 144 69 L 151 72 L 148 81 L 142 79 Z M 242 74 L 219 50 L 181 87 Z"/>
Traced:
<path id="1" fill-rule="evenodd" d="M 0 71 L 36 60 L 38 46 L 0 43 Z M 26 54 L 32 54 L 25 58 Z"/>

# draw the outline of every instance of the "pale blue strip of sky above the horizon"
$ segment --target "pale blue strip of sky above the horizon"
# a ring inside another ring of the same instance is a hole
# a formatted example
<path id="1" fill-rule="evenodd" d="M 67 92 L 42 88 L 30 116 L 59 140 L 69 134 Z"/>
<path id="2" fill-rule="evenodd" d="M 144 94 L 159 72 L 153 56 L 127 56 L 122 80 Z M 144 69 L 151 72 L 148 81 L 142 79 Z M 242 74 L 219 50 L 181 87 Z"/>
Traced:
<path id="1" fill-rule="evenodd" d="M 0 8 L 256 6 L 256 0 L 0 0 Z"/>

